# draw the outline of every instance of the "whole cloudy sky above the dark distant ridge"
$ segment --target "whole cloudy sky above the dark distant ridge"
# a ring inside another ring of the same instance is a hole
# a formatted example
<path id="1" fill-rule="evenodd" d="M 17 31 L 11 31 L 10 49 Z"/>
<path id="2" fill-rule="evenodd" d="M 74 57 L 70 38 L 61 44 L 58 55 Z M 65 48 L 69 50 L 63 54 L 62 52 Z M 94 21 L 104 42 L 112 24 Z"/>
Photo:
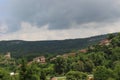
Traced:
<path id="1" fill-rule="evenodd" d="M 0 0 L 1 40 L 63 40 L 120 32 L 119 0 Z"/>

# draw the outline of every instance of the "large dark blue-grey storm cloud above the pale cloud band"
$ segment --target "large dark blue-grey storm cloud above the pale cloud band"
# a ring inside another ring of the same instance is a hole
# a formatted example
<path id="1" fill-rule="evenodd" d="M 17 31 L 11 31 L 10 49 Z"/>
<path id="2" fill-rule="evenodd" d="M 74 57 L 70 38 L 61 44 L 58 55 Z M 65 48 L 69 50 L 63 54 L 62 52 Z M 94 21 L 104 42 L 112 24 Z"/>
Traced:
<path id="1" fill-rule="evenodd" d="M 119 0 L 12 0 L 11 3 L 17 23 L 25 21 L 38 27 L 48 24 L 49 29 L 109 23 L 120 18 Z"/>

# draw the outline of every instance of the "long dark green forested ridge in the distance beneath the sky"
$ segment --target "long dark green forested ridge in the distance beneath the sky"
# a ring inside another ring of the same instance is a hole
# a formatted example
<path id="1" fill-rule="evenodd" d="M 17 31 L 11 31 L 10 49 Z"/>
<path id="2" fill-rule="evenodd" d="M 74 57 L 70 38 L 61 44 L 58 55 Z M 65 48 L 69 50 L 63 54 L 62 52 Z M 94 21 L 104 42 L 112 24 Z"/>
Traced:
<path id="1" fill-rule="evenodd" d="M 107 35 L 89 38 L 53 40 L 53 41 L 0 41 L 0 53 L 11 52 L 13 57 L 37 56 L 45 54 L 63 54 L 85 48 L 105 39 Z"/>

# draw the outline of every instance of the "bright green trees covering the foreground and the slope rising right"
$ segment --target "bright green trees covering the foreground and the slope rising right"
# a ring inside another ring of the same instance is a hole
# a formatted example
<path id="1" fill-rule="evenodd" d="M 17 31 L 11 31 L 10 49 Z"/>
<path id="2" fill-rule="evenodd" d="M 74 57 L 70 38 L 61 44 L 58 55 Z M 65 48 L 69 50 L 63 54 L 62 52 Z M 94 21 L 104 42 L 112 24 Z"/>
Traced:
<path id="1" fill-rule="evenodd" d="M 120 34 L 109 35 L 86 52 L 47 56 L 46 63 L 0 58 L 0 80 L 120 80 Z M 14 62 L 14 63 L 13 63 Z M 3 65 L 4 64 L 4 65 Z M 16 74 L 10 75 L 10 72 Z M 92 75 L 92 77 L 89 77 Z"/>

